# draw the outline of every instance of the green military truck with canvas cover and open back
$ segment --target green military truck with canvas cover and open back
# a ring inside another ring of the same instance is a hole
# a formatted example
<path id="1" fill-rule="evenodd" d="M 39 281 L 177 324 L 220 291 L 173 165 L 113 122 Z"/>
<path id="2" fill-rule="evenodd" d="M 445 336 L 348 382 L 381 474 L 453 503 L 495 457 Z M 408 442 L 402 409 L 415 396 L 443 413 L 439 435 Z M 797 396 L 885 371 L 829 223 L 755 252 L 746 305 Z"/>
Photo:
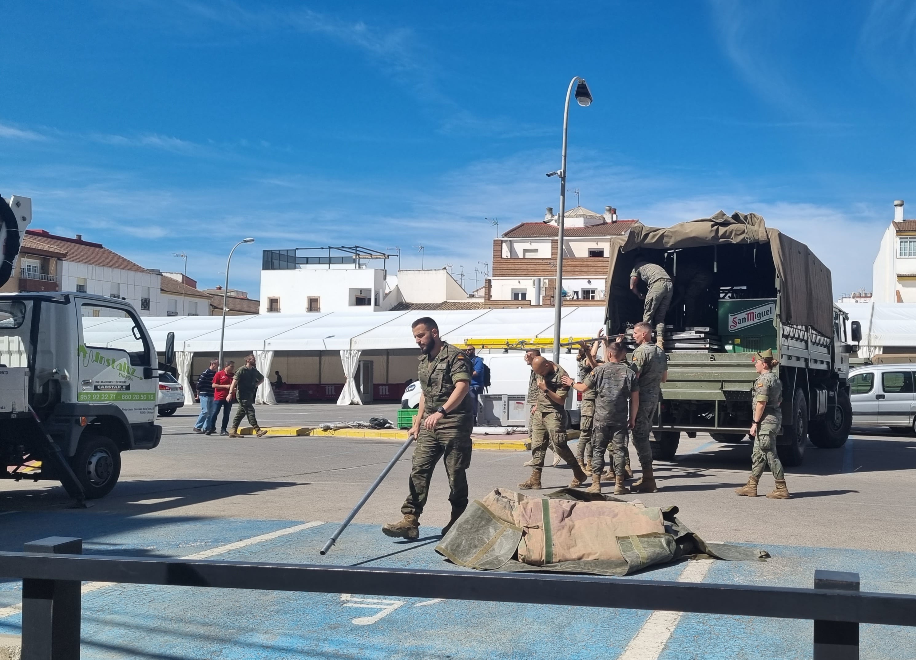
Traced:
<path id="1" fill-rule="evenodd" d="M 806 440 L 842 447 L 852 425 L 845 312 L 834 306 L 830 270 L 803 243 L 754 213 L 719 211 L 666 228 L 636 223 L 611 239 L 609 335 L 642 319 L 629 290 L 638 261 L 674 280 L 665 318 L 668 382 L 661 386 L 653 455 L 673 460 L 682 433 L 742 442 L 751 425 L 754 355 L 772 349 L 782 383 L 780 459 L 802 463 Z M 851 327 L 860 341 L 857 323 Z"/>

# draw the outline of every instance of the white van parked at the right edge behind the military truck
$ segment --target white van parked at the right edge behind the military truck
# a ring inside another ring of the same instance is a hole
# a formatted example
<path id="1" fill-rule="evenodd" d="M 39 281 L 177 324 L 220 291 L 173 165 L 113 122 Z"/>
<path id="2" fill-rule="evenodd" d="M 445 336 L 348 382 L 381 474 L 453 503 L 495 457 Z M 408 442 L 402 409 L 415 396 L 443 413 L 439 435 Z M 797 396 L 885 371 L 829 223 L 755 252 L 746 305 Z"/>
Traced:
<path id="1" fill-rule="evenodd" d="M 854 427 L 916 433 L 916 364 L 869 364 L 849 372 Z"/>

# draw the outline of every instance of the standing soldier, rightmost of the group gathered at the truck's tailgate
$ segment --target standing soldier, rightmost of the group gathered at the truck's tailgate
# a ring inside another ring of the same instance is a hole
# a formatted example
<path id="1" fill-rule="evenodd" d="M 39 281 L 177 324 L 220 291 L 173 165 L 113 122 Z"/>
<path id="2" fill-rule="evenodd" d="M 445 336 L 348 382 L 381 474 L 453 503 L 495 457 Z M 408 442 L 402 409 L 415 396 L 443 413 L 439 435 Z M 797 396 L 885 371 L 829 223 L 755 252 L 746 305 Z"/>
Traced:
<path id="1" fill-rule="evenodd" d="M 652 327 L 646 321 L 633 326 L 633 339 L 638 346 L 633 352 L 630 367 L 639 376 L 639 413 L 633 427 L 633 446 L 639 457 L 642 478 L 633 484 L 633 492 L 656 492 L 659 490 L 652 471 L 652 447 L 649 433 L 652 417 L 659 407 L 661 384 L 668 380 L 668 357 L 655 344 L 650 344 Z"/>

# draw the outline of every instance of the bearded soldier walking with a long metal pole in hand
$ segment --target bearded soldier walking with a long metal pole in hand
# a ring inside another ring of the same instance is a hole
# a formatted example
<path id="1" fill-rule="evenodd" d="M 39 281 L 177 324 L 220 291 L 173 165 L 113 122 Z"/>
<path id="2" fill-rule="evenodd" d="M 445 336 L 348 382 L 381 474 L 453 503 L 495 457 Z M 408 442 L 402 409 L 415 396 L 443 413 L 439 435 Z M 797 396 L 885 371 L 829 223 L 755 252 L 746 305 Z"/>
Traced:
<path id="1" fill-rule="evenodd" d="M 467 477 L 471 465 L 471 361 L 439 337 L 439 326 L 424 317 L 413 322 L 413 335 L 420 346 L 417 378 L 423 394 L 420 411 L 414 417 L 410 433 L 416 438 L 413 468 L 410 471 L 409 495 L 397 523 L 382 526 L 386 536 L 417 538 L 420 536 L 420 514 L 430 494 L 430 480 L 436 462 L 444 456 L 449 477 L 449 502 L 452 517 L 442 529 L 444 536 L 467 508 Z"/>

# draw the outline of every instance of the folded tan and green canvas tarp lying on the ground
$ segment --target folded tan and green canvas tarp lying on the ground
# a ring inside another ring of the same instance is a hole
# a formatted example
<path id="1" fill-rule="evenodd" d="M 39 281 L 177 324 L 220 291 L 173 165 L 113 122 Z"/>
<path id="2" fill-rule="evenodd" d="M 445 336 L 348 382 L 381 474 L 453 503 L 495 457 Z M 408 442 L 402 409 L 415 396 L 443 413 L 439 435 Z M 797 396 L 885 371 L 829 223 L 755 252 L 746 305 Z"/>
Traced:
<path id="1" fill-rule="evenodd" d="M 761 561 L 763 550 L 706 544 L 676 514 L 610 495 L 563 489 L 544 498 L 490 492 L 474 500 L 436 552 L 482 570 L 622 576 L 682 557 Z"/>

